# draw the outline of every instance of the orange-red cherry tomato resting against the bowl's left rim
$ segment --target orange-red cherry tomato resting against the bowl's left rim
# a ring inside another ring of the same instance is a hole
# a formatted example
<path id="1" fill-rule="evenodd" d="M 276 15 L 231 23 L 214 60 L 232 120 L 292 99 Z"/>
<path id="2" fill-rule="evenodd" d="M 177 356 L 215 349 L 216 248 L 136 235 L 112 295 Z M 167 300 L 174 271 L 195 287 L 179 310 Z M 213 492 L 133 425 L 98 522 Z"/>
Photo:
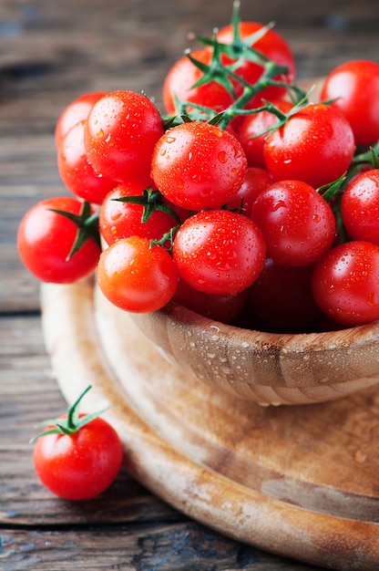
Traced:
<path id="1" fill-rule="evenodd" d="M 157 311 L 169 303 L 178 272 L 167 250 L 139 236 L 122 238 L 100 255 L 97 283 L 115 306 L 134 313 Z"/>

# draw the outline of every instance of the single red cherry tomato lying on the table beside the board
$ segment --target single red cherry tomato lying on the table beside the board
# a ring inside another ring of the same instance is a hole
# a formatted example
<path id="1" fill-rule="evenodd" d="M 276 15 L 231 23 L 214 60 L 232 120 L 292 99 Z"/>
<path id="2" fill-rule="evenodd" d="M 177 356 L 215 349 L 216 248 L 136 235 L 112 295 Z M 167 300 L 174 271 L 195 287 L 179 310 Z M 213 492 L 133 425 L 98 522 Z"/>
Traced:
<path id="1" fill-rule="evenodd" d="M 87 500 L 113 483 L 123 448 L 107 420 L 97 413 L 80 413 L 74 419 L 71 411 L 52 420 L 46 433 L 36 437 L 35 470 L 50 492 L 67 500 Z"/>

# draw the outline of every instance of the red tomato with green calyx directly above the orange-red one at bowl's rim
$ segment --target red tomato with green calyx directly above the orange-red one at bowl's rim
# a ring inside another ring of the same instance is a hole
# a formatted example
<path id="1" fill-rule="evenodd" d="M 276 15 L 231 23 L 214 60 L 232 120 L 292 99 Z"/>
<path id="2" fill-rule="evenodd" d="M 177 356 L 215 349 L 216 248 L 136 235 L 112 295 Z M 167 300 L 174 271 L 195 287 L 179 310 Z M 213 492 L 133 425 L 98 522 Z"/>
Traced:
<path id="1" fill-rule="evenodd" d="M 120 184 L 102 203 L 99 213 L 100 233 L 107 242 L 112 244 L 120 238 L 133 235 L 149 240 L 160 240 L 163 234 L 169 233 L 178 222 L 168 213 L 155 209 L 149 220 L 142 221 L 144 205 L 134 202 L 120 202 L 117 199 L 141 194 L 140 187 L 134 184 Z"/>

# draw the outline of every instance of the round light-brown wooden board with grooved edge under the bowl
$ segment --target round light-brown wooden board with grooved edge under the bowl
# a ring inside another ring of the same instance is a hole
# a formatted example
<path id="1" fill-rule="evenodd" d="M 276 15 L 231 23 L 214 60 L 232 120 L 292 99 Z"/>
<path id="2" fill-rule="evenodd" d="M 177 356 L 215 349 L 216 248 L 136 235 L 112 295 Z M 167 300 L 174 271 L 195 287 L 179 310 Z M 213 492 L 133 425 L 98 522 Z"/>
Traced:
<path id="1" fill-rule="evenodd" d="M 43 285 L 43 327 L 68 402 L 124 442 L 128 471 L 224 535 L 332 569 L 379 565 L 379 393 L 261 408 L 216 392 L 152 346 L 91 281 Z"/>

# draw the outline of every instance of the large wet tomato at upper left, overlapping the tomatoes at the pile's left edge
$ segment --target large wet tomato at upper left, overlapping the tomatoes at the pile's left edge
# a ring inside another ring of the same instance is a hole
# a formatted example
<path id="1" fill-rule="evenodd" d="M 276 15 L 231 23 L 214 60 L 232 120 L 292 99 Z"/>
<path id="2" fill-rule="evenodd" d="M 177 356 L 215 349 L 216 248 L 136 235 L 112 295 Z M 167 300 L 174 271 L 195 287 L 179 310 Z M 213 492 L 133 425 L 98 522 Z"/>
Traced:
<path id="1" fill-rule="evenodd" d="M 159 110 L 133 91 L 114 91 L 89 112 L 84 140 L 87 159 L 98 173 L 117 182 L 151 186 L 151 154 L 163 134 Z"/>

